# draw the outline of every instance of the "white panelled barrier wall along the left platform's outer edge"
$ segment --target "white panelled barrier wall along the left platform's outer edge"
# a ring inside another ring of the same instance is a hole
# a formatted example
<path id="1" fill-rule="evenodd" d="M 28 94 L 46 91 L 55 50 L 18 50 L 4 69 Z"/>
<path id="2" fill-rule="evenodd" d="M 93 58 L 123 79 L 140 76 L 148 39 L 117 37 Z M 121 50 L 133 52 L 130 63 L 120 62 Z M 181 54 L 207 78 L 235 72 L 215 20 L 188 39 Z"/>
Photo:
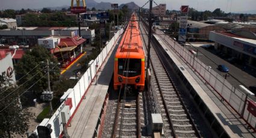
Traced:
<path id="1" fill-rule="evenodd" d="M 76 85 L 69 89 L 70 91 L 69 95 L 67 95 L 67 98 L 72 99 L 72 108 L 70 109 L 70 115 L 74 115 L 75 109 L 78 108 L 81 100 L 83 100 L 84 96 L 86 95 L 87 89 L 89 89 L 89 86 L 91 85 L 93 79 L 95 78 L 95 75 L 99 68 L 96 70 L 96 65 L 101 67 L 102 62 L 105 60 L 107 57 L 107 54 L 110 52 L 112 47 L 117 41 L 117 38 L 122 34 L 123 29 L 120 29 L 119 31 L 116 32 L 113 38 L 111 38 L 110 42 L 105 46 L 105 48 L 102 50 L 102 52 L 98 55 L 98 57 L 92 62 L 90 67 L 87 69 L 86 73 L 83 74 L 81 79 L 76 83 Z M 65 100 L 66 100 L 65 99 Z M 63 131 L 63 125 L 61 125 L 61 116 L 60 112 L 61 109 L 65 106 L 65 102 L 61 103 L 60 107 L 58 107 L 57 111 L 52 115 L 52 118 L 49 119 L 47 124 L 51 124 L 52 127 L 52 133 L 51 137 L 59 137 L 60 134 Z M 47 125 L 45 124 L 45 126 Z M 37 133 L 37 130 L 34 131 Z"/>

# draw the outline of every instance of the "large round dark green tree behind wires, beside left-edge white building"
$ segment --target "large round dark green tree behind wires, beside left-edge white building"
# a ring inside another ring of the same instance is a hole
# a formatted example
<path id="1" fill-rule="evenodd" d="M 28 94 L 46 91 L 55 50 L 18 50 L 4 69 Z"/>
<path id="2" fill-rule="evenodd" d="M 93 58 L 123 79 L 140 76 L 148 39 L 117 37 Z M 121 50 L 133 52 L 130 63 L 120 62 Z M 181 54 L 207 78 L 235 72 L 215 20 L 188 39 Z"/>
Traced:
<path id="1" fill-rule="evenodd" d="M 46 59 L 48 59 L 49 62 L 52 62 L 52 66 L 50 66 L 50 68 L 54 69 L 50 72 L 52 86 L 53 82 L 58 80 L 58 77 L 60 76 L 60 69 L 57 66 L 53 67 L 53 65 L 57 65 L 57 60 L 53 58 L 47 49 L 41 46 L 33 47 L 31 51 L 27 51 L 15 66 L 17 77 L 24 76 L 34 68 L 34 70 L 31 71 L 31 73 L 29 73 L 25 78 L 17 82 L 18 85 L 28 81 L 26 86 L 31 86 L 34 84 L 34 82 L 36 82 L 36 80 L 39 80 L 39 82 L 37 82 L 31 88 L 31 90 L 34 91 L 38 96 L 43 92 L 44 89 L 47 89 L 48 83 L 45 75 Z M 44 63 L 42 63 L 42 61 Z"/>

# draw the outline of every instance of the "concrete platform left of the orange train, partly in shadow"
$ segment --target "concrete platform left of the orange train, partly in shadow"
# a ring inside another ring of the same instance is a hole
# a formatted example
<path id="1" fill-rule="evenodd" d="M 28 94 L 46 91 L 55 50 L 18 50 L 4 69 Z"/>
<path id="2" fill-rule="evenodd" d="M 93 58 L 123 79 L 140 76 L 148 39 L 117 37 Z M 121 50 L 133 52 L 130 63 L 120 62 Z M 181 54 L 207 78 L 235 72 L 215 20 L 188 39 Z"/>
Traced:
<path id="1" fill-rule="evenodd" d="M 101 66 L 101 71 L 97 73 L 98 80 L 95 77 L 94 82 L 86 93 L 86 98 L 81 101 L 70 122 L 70 127 L 67 127 L 67 134 L 70 137 L 94 136 L 95 128 L 101 117 L 100 114 L 107 95 L 108 85 L 114 71 L 114 53 L 116 53 L 117 44 L 113 46 Z"/>

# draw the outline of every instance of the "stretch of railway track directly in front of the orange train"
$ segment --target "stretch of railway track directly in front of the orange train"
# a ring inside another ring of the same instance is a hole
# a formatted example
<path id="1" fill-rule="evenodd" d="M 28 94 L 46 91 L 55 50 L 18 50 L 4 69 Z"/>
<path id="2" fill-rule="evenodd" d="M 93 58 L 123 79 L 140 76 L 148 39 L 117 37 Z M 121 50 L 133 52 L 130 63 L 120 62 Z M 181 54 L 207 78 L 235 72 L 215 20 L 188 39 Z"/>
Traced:
<path id="1" fill-rule="evenodd" d="M 140 112 L 142 110 L 142 93 L 119 96 L 114 113 L 111 137 L 140 137 Z"/>

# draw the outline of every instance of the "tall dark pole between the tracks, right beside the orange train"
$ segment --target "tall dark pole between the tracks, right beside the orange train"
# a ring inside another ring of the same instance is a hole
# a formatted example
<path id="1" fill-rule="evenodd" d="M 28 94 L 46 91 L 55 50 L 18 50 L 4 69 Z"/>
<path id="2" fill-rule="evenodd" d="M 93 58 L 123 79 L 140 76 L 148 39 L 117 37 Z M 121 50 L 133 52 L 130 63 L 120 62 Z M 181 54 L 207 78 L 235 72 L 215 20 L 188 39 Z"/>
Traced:
<path id="1" fill-rule="evenodd" d="M 146 67 L 147 74 L 148 74 L 149 59 L 150 59 L 150 42 L 151 42 L 151 28 L 152 28 L 152 1 L 153 0 L 149 0 L 148 60 L 147 60 L 147 67 Z"/>

